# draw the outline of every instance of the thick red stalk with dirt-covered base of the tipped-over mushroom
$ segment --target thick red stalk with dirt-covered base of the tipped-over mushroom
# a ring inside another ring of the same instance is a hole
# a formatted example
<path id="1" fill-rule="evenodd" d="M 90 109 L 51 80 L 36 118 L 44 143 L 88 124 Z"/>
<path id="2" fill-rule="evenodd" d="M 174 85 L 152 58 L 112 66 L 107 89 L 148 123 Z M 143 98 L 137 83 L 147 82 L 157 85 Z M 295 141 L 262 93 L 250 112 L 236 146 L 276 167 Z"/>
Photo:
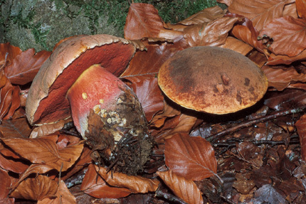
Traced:
<path id="1" fill-rule="evenodd" d="M 116 162 L 125 173 L 142 171 L 152 140 L 130 87 L 100 65 L 92 65 L 70 87 L 67 98 L 75 127 L 96 151 L 95 159 L 108 165 Z"/>

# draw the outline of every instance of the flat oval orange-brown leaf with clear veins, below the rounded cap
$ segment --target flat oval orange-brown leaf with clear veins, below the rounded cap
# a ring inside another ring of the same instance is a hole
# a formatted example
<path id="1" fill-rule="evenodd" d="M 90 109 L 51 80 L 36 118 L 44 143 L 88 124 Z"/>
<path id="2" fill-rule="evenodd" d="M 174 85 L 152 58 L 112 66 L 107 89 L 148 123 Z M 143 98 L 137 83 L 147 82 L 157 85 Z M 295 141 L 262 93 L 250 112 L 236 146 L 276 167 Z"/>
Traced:
<path id="1" fill-rule="evenodd" d="M 209 141 L 199 136 L 174 134 L 165 142 L 166 165 L 178 176 L 193 181 L 216 175 L 217 161 Z"/>

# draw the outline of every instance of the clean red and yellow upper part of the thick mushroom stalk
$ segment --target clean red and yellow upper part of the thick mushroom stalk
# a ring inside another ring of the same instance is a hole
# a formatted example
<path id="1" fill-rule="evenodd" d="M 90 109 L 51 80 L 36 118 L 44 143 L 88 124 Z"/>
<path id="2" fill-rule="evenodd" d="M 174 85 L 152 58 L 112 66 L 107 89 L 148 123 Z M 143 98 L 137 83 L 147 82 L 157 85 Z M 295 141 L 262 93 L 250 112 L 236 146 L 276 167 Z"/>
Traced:
<path id="1" fill-rule="evenodd" d="M 67 98 L 73 116 L 73 122 L 80 134 L 84 136 L 88 129 L 88 115 L 95 105 L 100 109 L 115 107 L 120 94 L 127 85 L 100 65 L 92 65 L 68 90 Z"/>

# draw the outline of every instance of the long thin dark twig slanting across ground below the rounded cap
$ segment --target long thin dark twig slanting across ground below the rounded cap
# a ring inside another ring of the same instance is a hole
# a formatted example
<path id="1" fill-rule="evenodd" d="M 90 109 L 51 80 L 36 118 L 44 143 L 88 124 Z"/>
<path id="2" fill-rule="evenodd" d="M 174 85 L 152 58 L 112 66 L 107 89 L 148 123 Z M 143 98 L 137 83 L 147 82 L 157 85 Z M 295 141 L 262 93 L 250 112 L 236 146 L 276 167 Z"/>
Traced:
<path id="1" fill-rule="evenodd" d="M 223 131 L 219 131 L 217 134 L 213 134 L 211 136 L 208 136 L 208 137 L 206 137 L 206 139 L 208 141 L 213 142 L 213 141 L 216 141 L 217 139 L 220 139 L 221 136 L 224 136 L 226 134 L 231 134 L 233 131 L 238 131 L 239 129 L 242 129 L 242 128 L 245 128 L 245 127 L 250 127 L 254 124 L 258 124 L 260 122 L 265 122 L 265 121 L 270 120 L 270 119 L 275 119 L 277 117 L 282 117 L 282 116 L 285 116 L 287 114 L 295 114 L 295 113 L 298 113 L 298 112 L 302 112 L 302 111 L 304 111 L 305 108 L 306 107 L 289 109 L 289 110 L 285 110 L 285 111 L 276 112 L 276 113 L 270 114 L 268 116 L 259 117 L 257 119 L 253 119 L 253 120 L 250 120 L 250 121 L 247 121 L 247 122 L 241 122 L 240 124 L 238 124 L 234 127 L 225 129 Z"/>

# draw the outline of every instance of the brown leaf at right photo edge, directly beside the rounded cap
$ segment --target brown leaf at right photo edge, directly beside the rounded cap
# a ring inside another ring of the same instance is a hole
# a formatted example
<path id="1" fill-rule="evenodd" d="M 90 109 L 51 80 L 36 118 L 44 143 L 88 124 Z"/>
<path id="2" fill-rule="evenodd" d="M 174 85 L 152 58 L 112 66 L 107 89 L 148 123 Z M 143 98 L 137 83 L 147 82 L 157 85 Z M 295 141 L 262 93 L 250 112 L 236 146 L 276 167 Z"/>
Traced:
<path id="1" fill-rule="evenodd" d="M 263 72 L 268 78 L 269 87 L 274 87 L 278 91 L 284 90 L 290 83 L 306 82 L 306 74 L 297 73 L 293 66 L 290 68 L 276 68 L 264 65 Z"/>

